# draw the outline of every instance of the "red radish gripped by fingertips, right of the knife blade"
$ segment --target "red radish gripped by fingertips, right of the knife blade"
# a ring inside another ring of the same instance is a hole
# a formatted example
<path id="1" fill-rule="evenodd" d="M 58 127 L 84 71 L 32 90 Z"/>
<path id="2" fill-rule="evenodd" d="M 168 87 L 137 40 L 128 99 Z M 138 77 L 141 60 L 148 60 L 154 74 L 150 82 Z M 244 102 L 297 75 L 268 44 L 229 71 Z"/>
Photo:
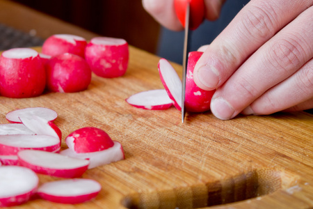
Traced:
<path id="1" fill-rule="evenodd" d="M 188 54 L 185 107 L 189 112 L 203 112 L 210 109 L 211 98 L 216 90 L 205 91 L 193 81 L 193 69 L 203 52 L 190 52 Z"/>

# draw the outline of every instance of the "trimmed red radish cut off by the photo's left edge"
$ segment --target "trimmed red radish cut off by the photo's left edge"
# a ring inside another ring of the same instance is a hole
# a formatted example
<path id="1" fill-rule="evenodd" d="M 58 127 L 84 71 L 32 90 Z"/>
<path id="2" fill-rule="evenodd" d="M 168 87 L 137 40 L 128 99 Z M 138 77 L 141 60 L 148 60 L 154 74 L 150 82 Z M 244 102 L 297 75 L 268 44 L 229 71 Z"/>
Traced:
<path id="1" fill-rule="evenodd" d="M 35 50 L 14 48 L 1 54 L 0 95 L 8 98 L 41 95 L 45 90 L 45 78 L 45 67 Z"/>

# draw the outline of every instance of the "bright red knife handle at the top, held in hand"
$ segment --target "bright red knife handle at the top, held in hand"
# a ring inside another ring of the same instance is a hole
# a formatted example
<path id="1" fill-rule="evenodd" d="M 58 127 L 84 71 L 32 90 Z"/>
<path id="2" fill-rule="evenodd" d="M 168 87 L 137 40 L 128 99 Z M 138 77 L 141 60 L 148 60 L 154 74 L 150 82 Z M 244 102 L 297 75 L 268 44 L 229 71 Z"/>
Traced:
<path id="1" fill-rule="evenodd" d="M 204 20 L 204 0 L 174 0 L 175 13 L 183 26 L 185 26 L 187 3 L 190 3 L 189 29 L 195 30 Z"/>

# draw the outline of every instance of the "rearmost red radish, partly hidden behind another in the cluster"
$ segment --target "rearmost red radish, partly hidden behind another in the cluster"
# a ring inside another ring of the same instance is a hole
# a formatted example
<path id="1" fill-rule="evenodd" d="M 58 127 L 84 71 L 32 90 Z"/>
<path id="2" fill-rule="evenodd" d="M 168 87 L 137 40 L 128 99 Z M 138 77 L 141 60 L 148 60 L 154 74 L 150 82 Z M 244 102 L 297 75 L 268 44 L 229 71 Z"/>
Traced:
<path id="1" fill-rule="evenodd" d="M 87 41 L 83 37 L 71 34 L 55 34 L 43 43 L 42 54 L 57 56 L 68 52 L 84 57 L 86 45 Z"/>

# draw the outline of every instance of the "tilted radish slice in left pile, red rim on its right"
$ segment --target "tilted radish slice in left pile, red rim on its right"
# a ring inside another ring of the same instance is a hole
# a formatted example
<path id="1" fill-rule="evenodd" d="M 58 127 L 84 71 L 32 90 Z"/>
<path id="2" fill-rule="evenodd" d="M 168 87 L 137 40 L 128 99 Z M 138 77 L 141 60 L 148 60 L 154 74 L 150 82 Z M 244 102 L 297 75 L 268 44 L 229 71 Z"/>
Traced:
<path id="1" fill-rule="evenodd" d="M 51 137 L 56 137 L 62 139 L 62 132 L 53 122 L 47 121 L 45 118 L 40 118 L 39 116 L 33 116 L 31 118 L 19 117 L 19 120 L 38 135 L 48 135 Z"/>

